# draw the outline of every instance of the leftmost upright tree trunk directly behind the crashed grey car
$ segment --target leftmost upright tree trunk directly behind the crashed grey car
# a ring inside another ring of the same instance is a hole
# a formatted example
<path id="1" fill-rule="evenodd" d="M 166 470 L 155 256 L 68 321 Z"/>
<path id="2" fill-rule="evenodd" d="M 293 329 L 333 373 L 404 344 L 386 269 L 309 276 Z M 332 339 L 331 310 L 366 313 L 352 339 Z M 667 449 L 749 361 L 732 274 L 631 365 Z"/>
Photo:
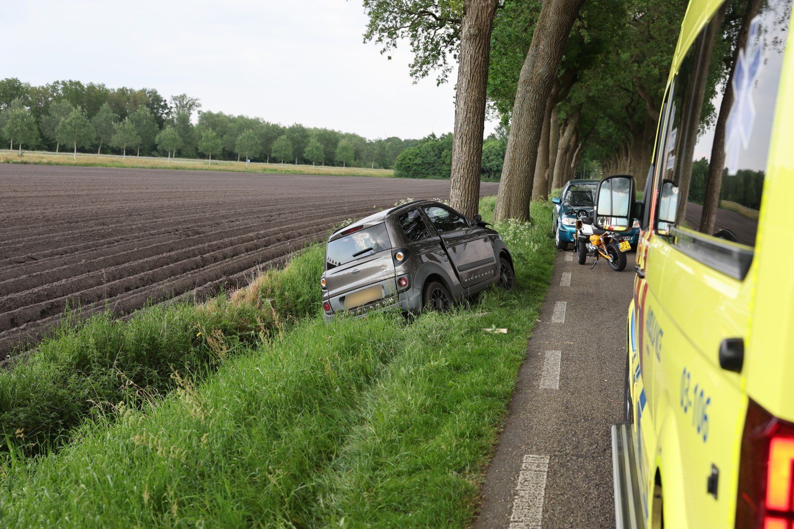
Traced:
<path id="1" fill-rule="evenodd" d="M 464 2 L 449 205 L 466 217 L 474 217 L 480 204 L 488 61 L 497 3 L 497 0 Z"/>

